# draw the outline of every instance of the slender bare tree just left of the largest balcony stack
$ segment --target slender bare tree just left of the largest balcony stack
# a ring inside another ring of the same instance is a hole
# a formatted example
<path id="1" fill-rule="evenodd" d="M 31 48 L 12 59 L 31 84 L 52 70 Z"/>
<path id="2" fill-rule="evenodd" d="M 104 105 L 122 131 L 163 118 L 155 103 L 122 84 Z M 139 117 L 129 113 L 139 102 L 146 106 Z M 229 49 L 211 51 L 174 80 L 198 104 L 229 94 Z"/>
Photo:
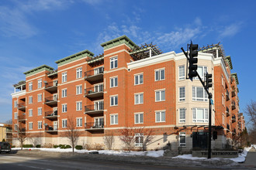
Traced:
<path id="1" fill-rule="evenodd" d="M 76 122 L 72 117 L 67 117 L 67 131 L 64 132 L 64 136 L 69 139 L 72 146 L 72 151 L 74 152 L 74 147 L 78 142 L 78 138 L 81 135 L 81 131 L 78 131 L 76 127 Z"/>

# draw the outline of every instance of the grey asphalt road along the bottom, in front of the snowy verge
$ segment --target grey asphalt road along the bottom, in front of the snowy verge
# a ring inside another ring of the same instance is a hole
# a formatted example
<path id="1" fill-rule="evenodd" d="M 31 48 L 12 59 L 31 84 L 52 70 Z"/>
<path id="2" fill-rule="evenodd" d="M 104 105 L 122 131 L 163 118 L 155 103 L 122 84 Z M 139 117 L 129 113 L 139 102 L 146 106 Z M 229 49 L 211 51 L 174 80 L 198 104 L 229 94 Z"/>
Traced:
<path id="1" fill-rule="evenodd" d="M 0 154 L 0 169 L 1 170 L 71 170 L 71 169 L 106 169 L 106 170 L 123 170 L 123 169 L 217 169 L 217 168 L 199 168 L 199 167 L 171 167 L 162 165 L 145 165 L 137 163 L 125 162 L 104 162 L 87 159 L 72 160 L 69 158 L 43 158 L 37 156 L 16 155 L 16 154 Z"/>

